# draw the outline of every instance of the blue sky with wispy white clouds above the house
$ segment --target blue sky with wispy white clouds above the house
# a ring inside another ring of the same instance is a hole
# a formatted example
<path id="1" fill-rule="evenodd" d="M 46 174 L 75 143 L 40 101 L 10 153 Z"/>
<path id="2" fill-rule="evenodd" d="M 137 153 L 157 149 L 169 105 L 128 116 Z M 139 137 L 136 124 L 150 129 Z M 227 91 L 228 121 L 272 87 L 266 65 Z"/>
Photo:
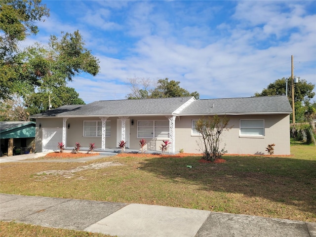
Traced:
<path id="1" fill-rule="evenodd" d="M 130 78 L 180 81 L 200 99 L 249 97 L 294 75 L 316 84 L 316 1 L 52 1 L 28 42 L 82 34 L 96 77 L 70 82 L 85 103 L 125 99 Z M 316 97 L 314 97 L 316 100 Z"/>

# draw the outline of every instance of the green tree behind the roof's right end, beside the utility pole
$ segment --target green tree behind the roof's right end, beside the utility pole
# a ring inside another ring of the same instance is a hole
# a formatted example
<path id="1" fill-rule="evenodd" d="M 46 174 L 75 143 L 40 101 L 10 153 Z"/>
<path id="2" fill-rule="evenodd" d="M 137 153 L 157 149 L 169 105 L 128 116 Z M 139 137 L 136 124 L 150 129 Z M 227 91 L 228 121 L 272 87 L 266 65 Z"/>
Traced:
<path id="1" fill-rule="evenodd" d="M 261 93 L 255 93 L 255 96 L 286 95 L 287 89 L 288 99 L 290 104 L 292 104 L 291 88 L 291 79 L 288 80 L 287 88 L 285 78 L 277 79 L 275 82 L 270 83 L 267 88 L 263 89 Z M 313 92 L 314 88 L 315 85 L 308 83 L 305 79 L 299 79 L 299 82 L 294 84 L 295 120 L 297 122 L 306 121 L 306 116 L 304 114 L 305 111 L 308 110 L 310 100 L 315 96 L 315 92 Z"/>

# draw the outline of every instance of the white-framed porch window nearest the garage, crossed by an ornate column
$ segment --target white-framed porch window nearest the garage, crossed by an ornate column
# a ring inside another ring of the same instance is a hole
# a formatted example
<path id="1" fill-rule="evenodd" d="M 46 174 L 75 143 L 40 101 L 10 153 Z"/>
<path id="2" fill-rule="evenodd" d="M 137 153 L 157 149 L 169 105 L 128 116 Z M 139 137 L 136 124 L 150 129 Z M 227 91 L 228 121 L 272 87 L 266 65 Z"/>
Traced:
<path id="1" fill-rule="evenodd" d="M 84 137 L 102 137 L 102 121 L 83 121 Z M 105 137 L 111 137 L 111 120 L 105 121 Z"/>

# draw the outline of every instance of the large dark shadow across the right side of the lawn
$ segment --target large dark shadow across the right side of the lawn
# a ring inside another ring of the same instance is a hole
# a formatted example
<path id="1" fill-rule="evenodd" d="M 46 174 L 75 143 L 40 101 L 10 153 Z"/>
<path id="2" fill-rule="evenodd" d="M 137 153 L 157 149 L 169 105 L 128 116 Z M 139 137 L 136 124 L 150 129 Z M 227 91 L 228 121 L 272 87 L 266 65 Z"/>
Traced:
<path id="1" fill-rule="evenodd" d="M 203 191 L 262 197 L 316 214 L 316 160 L 225 157 L 226 163 L 214 164 L 199 163 L 198 159 L 151 158 L 142 162 L 140 168 L 175 185 L 181 179 Z"/>

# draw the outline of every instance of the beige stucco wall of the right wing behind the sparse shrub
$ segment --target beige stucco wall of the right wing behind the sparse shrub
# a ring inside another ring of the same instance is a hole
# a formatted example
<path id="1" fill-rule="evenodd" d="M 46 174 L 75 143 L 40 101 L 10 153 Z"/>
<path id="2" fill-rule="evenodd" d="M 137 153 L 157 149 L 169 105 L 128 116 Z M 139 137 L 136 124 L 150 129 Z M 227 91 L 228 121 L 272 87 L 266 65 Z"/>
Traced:
<path id="1" fill-rule="evenodd" d="M 205 117 L 206 118 L 206 117 Z M 221 147 L 226 144 L 228 154 L 268 154 L 266 147 L 276 144 L 275 155 L 290 155 L 289 115 L 256 115 L 256 116 L 230 116 L 230 131 L 225 131 L 222 136 Z M 176 119 L 176 151 L 184 149 L 187 153 L 198 153 L 197 141 L 199 137 L 192 135 L 191 124 L 197 116 L 181 117 Z M 264 119 L 265 136 L 262 138 L 240 137 L 240 119 Z"/>

